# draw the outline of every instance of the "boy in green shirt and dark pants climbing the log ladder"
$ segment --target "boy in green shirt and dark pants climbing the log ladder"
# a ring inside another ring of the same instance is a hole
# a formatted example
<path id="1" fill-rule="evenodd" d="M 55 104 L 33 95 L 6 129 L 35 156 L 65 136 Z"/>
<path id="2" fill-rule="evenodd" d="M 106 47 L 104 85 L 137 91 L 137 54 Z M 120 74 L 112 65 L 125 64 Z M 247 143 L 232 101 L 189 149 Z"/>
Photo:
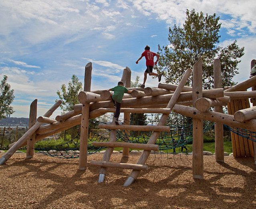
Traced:
<path id="1" fill-rule="evenodd" d="M 118 118 L 120 115 L 120 107 L 123 100 L 123 94 L 128 93 L 131 94 L 132 91 L 128 90 L 123 86 L 123 82 L 119 81 L 118 86 L 115 86 L 114 88 L 109 89 L 109 91 L 114 91 L 114 94 L 111 94 L 111 99 L 114 103 L 114 106 L 116 107 L 114 120 L 115 124 L 119 125 Z"/>

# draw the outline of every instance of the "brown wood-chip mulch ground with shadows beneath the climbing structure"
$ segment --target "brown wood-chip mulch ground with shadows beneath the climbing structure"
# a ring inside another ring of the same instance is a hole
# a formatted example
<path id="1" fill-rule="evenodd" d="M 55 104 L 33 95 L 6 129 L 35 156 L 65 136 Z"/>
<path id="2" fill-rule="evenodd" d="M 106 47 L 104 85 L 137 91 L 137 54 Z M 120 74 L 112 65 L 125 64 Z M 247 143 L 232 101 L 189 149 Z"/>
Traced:
<path id="1" fill-rule="evenodd" d="M 0 153 L 0 156 L 3 153 Z M 88 156 L 101 160 L 103 154 Z M 136 163 L 131 154 L 127 163 Z M 111 160 L 121 161 L 114 153 Z M 256 208 L 256 165 L 251 158 L 225 156 L 217 163 L 204 155 L 204 179 L 194 179 L 191 155 L 151 154 L 147 171 L 124 187 L 128 169 L 108 168 L 105 181 L 97 183 L 99 167 L 79 170 L 79 159 L 59 159 L 15 153 L 0 166 L 0 208 L 26 209 L 169 209 Z"/>

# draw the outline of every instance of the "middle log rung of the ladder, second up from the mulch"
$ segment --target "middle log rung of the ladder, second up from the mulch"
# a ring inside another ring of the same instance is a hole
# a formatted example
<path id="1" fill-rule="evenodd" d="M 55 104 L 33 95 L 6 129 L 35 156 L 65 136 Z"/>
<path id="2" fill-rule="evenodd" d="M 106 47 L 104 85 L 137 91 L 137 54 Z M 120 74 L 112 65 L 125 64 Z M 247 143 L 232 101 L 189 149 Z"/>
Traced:
<path id="1" fill-rule="evenodd" d="M 128 147 L 133 149 L 143 149 L 143 150 L 159 150 L 159 145 L 157 144 L 141 144 L 141 143 L 129 143 L 129 142 L 101 142 L 93 141 L 93 146 L 99 147 Z"/>

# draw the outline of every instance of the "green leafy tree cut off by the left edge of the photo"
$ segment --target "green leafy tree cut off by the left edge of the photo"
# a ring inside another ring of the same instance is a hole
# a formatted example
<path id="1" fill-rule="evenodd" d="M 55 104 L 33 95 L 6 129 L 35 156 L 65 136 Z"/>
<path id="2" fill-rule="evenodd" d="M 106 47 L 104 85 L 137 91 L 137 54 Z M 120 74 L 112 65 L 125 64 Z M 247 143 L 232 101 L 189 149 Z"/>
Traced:
<path id="1" fill-rule="evenodd" d="M 10 106 L 14 100 L 14 90 L 7 83 L 7 79 L 8 77 L 4 75 L 0 84 L 0 119 L 14 113 L 13 107 Z"/>

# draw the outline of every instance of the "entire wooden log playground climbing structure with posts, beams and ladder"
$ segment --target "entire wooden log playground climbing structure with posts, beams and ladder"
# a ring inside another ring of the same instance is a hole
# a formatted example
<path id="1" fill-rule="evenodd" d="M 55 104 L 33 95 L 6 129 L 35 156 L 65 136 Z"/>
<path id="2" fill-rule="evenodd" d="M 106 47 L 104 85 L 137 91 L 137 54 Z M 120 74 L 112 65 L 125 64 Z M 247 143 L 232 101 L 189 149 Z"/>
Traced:
<path id="1" fill-rule="evenodd" d="M 252 60 L 254 66 L 256 60 Z M 107 147 L 103 154 L 102 161 L 91 161 L 90 165 L 100 167 L 99 183 L 105 179 L 107 167 L 117 167 L 121 169 L 132 169 L 131 174 L 124 183 L 124 186 L 131 185 L 138 177 L 141 170 L 147 170 L 145 165 L 151 150 L 159 150 L 159 145 L 155 142 L 161 131 L 169 131 L 169 126 L 165 122 L 171 113 L 179 113 L 193 118 L 193 177 L 204 178 L 203 161 L 203 120 L 215 122 L 215 157 L 216 161 L 224 162 L 224 140 L 223 124 L 230 127 L 246 129 L 252 137 L 256 135 L 256 76 L 241 82 L 232 87 L 222 88 L 220 60 L 214 61 L 214 89 L 202 89 L 202 58 L 193 66 L 193 86 L 185 86 L 192 70 L 188 69 L 178 85 L 161 84 L 156 88 L 130 88 L 131 70 L 126 67 L 123 70 L 121 81 L 129 90 L 130 94 L 123 97 L 121 112 L 124 113 L 124 120 L 130 120 L 130 113 L 161 113 L 161 119 L 155 126 L 149 125 L 115 125 L 99 124 L 99 128 L 111 129 L 109 141 L 97 142 L 95 146 Z M 89 135 L 89 119 L 98 117 L 107 112 L 115 112 L 110 93 L 106 90 L 91 92 L 91 62 L 85 66 L 85 86 L 79 93 L 79 102 L 74 106 L 74 110 L 63 115 L 58 115 L 51 119 L 50 115 L 61 104 L 59 100 L 43 116 L 37 118 L 37 100 L 30 105 L 29 129 L 14 143 L 8 151 L 0 158 L 0 165 L 4 164 L 14 152 L 27 145 L 26 158 L 34 155 L 34 144 L 36 141 L 53 135 L 75 125 L 81 124 L 80 133 L 80 154 L 79 169 L 87 168 L 87 141 Z M 247 91 L 252 88 L 252 91 Z M 250 107 L 249 98 L 252 107 Z M 193 105 L 193 107 L 191 107 Z M 223 106 L 228 107 L 228 114 L 223 113 Z M 213 110 L 209 110 L 214 107 Z M 47 123 L 46 125 L 42 125 Z M 129 130 L 152 131 L 147 144 L 116 142 L 116 130 L 123 130 L 129 137 Z M 255 138 L 254 138 L 255 139 Z M 143 152 L 136 164 L 110 162 L 111 154 L 115 147 L 123 147 L 123 157 L 129 157 L 129 148 L 142 149 Z M 256 142 L 246 137 L 232 133 L 232 149 L 234 157 L 254 157 L 256 165 Z"/>

